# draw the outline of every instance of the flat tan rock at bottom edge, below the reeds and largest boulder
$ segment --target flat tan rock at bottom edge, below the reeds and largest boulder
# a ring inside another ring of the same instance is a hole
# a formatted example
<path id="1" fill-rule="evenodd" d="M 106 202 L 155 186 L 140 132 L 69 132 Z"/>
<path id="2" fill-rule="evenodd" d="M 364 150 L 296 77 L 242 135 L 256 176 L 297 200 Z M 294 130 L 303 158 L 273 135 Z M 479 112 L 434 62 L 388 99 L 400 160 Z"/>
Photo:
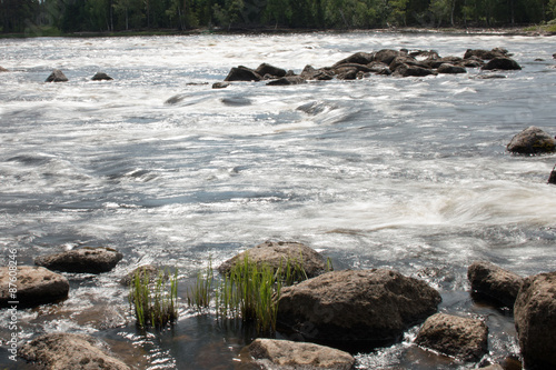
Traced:
<path id="1" fill-rule="evenodd" d="M 240 358 L 242 370 L 350 370 L 355 363 L 351 354 L 334 348 L 260 338 L 241 350 Z"/>

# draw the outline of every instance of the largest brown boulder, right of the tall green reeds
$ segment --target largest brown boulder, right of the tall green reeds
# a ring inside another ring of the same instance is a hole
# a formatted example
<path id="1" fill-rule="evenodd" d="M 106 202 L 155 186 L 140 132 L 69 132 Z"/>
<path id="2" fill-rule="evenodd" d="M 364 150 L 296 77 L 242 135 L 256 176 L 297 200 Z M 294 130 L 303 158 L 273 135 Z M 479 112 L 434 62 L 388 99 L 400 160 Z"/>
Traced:
<path id="1" fill-rule="evenodd" d="M 396 271 L 331 271 L 282 288 L 278 322 L 309 341 L 375 347 L 398 341 L 440 301 L 426 282 Z"/>

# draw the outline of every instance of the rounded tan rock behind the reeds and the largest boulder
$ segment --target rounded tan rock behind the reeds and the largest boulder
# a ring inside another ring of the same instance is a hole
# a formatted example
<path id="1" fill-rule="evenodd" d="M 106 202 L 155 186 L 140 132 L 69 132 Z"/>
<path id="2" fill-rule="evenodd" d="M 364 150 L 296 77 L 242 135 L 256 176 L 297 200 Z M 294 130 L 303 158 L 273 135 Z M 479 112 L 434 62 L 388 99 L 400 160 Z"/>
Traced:
<path id="1" fill-rule="evenodd" d="M 308 278 L 316 277 L 326 270 L 326 260 L 312 248 L 298 242 L 266 241 L 227 260 L 218 268 L 220 273 L 227 273 L 236 263 L 242 263 L 246 254 L 250 262 L 267 264 L 277 270 L 286 267 L 288 259 L 300 263 Z"/>

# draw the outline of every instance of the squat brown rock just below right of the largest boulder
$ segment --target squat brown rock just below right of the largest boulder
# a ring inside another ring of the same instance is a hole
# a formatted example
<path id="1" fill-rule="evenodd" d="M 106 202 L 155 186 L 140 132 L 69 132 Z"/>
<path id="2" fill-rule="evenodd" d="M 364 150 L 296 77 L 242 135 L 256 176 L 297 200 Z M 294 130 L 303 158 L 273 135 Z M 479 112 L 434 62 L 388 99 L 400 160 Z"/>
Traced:
<path id="1" fill-rule="evenodd" d="M 415 342 L 464 361 L 478 361 L 488 350 L 488 328 L 481 320 L 437 313 L 425 321 Z"/>

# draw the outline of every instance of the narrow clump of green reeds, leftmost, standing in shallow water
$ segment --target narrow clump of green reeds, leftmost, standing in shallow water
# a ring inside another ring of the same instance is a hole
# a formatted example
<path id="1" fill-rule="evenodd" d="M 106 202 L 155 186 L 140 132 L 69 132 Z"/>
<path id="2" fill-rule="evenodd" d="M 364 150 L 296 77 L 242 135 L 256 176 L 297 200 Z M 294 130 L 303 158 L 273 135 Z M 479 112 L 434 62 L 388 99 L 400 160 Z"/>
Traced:
<path id="1" fill-rule="evenodd" d="M 178 319 L 178 270 L 173 276 L 160 271 L 150 282 L 148 273 L 138 271 L 129 286 L 129 303 L 141 328 L 163 328 Z"/>

